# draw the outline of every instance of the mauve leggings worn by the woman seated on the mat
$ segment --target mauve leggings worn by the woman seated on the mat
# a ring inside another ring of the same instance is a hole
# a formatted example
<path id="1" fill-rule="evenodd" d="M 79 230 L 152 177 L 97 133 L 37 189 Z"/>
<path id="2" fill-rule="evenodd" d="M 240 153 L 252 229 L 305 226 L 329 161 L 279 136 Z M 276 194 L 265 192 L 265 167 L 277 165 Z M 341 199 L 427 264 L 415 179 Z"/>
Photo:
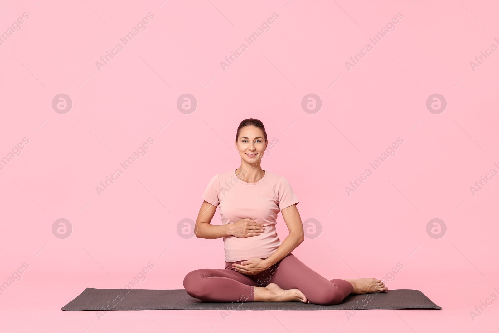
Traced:
<path id="1" fill-rule="evenodd" d="M 188 273 L 184 278 L 187 294 L 204 302 L 254 302 L 255 286 L 275 283 L 281 289 L 299 289 L 310 303 L 333 305 L 341 303 L 353 290 L 348 281 L 327 280 L 292 253 L 256 275 L 245 275 L 232 268 L 232 264 L 243 261 L 226 262 L 225 270 L 206 268 Z"/>

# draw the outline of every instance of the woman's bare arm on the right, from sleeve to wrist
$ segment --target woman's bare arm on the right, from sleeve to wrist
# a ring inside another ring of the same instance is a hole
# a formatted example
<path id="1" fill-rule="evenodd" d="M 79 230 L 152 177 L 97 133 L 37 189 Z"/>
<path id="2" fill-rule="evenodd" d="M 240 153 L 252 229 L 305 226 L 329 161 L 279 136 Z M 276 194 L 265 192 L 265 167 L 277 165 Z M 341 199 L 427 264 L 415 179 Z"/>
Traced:
<path id="1" fill-rule="evenodd" d="M 270 257 L 263 260 L 267 268 L 270 268 L 276 262 L 287 256 L 305 240 L 305 236 L 303 236 L 303 224 L 296 205 L 284 208 L 281 210 L 281 213 L 282 218 L 287 225 L 287 229 L 289 230 L 289 235 L 287 235 L 282 244 L 270 255 Z"/>

